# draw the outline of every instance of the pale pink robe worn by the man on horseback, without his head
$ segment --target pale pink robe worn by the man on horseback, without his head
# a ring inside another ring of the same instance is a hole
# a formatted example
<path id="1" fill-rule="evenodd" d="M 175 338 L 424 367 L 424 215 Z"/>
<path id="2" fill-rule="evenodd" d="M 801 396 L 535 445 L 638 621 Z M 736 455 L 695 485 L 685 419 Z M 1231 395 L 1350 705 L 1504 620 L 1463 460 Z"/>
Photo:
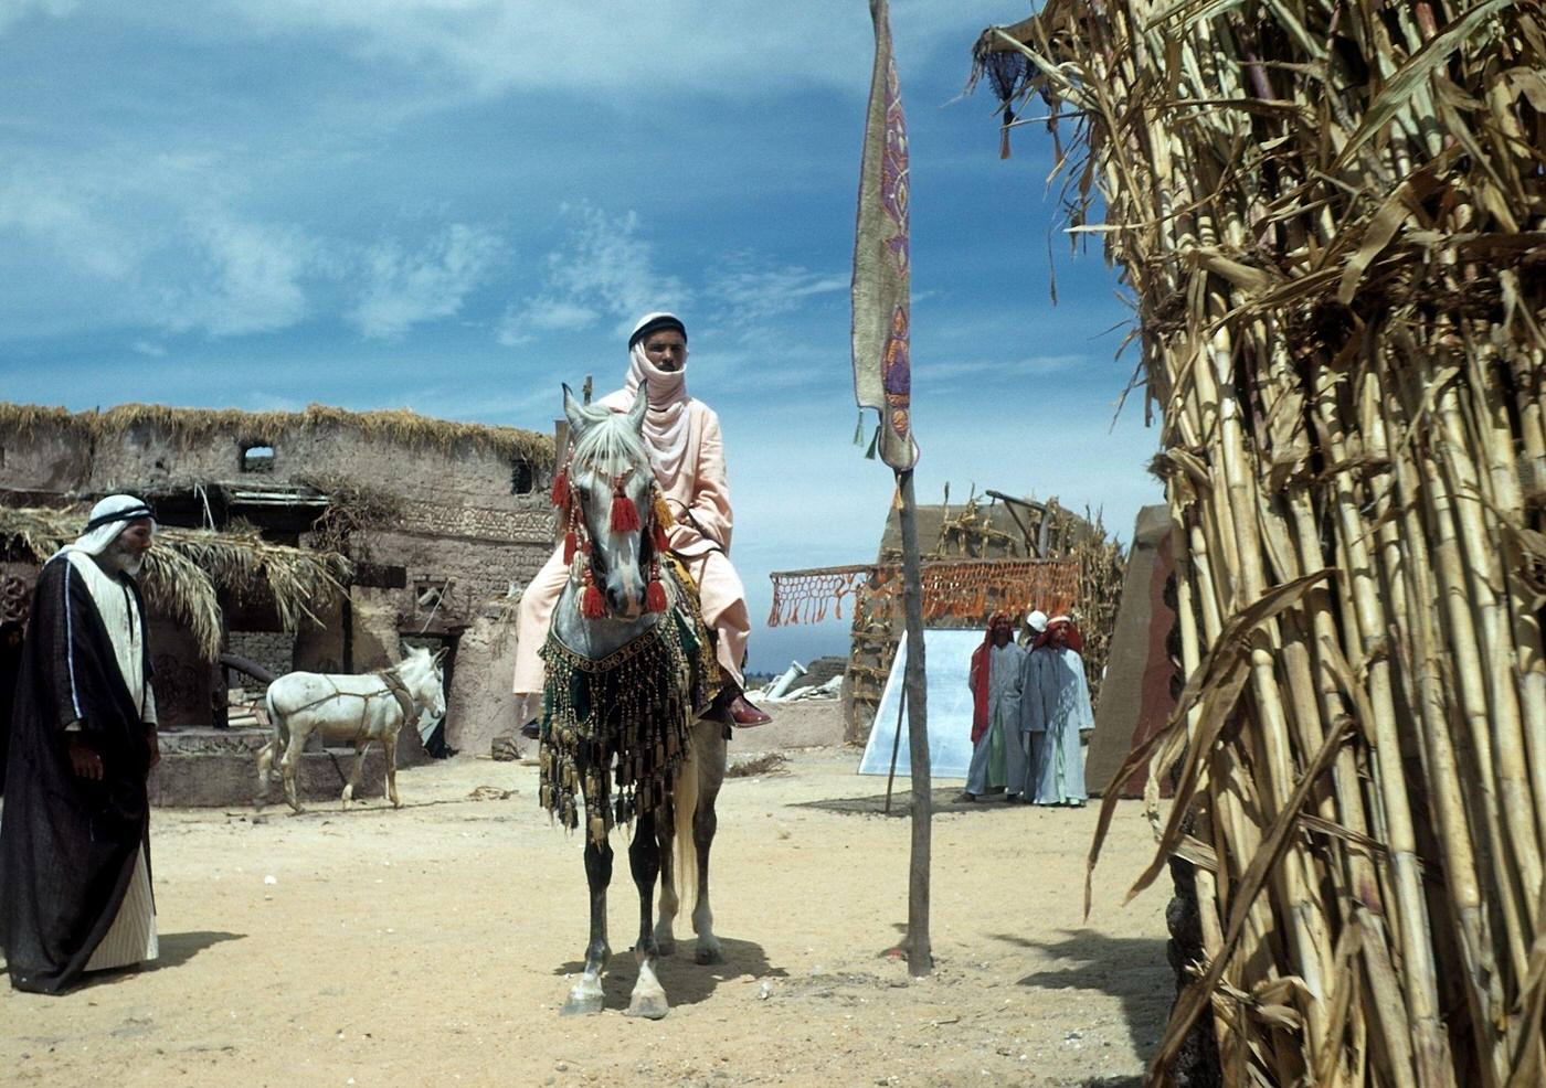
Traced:
<path id="1" fill-rule="evenodd" d="M 637 385 L 635 385 L 637 388 Z M 634 389 L 625 388 L 603 397 L 612 411 L 628 411 L 634 403 Z M 697 581 L 703 598 L 703 621 L 717 635 L 719 665 L 725 674 L 744 688 L 741 661 L 751 637 L 751 617 L 747 614 L 747 592 L 741 575 L 730 564 L 730 482 L 725 476 L 725 445 L 719 434 L 719 416 L 702 400 L 686 399 L 686 440 L 682 456 L 668 473 L 657 457 L 651 457 L 656 479 L 665 491 L 676 525 L 671 529 L 674 550 Z M 651 405 L 654 411 L 654 405 Z M 646 433 L 646 445 L 649 434 Z M 673 457 L 676 461 L 676 457 Z M 553 550 L 543 569 L 532 578 L 521 597 L 516 618 L 515 648 L 515 694 L 535 694 L 543 689 L 543 658 L 536 655 L 547 638 L 553 618 L 553 606 L 569 578 L 563 547 Z"/>

